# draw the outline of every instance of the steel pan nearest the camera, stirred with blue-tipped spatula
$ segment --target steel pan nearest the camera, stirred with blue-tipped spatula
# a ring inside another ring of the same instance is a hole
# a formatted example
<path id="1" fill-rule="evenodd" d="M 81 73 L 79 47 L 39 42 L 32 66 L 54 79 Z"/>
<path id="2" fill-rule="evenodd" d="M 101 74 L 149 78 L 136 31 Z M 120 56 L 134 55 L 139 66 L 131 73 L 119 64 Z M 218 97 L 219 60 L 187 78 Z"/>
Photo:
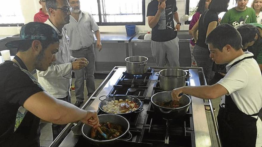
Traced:
<path id="1" fill-rule="evenodd" d="M 129 126 L 130 126 L 129 122 L 123 116 L 119 116 L 116 114 L 102 114 L 102 115 L 99 115 L 98 118 L 99 118 L 99 122 L 110 122 L 110 123 L 121 125 L 122 131 L 124 133 L 121 136 L 111 139 L 111 140 L 94 140 L 90 137 L 92 127 L 87 124 L 83 124 L 82 135 L 86 139 L 90 140 L 92 144 L 105 145 L 105 144 L 115 143 L 116 141 L 128 141 L 132 138 L 132 134 L 129 132 Z M 127 138 L 123 138 L 124 136 L 127 136 L 127 135 L 128 135 Z"/>

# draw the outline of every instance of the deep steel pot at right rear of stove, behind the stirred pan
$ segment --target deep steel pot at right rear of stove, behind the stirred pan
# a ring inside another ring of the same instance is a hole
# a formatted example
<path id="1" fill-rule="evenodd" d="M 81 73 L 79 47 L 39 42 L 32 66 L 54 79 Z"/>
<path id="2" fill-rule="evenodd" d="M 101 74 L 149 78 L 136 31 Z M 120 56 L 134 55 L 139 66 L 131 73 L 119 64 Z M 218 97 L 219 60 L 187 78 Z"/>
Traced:
<path id="1" fill-rule="evenodd" d="M 163 69 L 155 75 L 159 76 L 160 88 L 164 91 L 185 86 L 185 80 L 189 77 L 185 70 L 176 68 Z"/>

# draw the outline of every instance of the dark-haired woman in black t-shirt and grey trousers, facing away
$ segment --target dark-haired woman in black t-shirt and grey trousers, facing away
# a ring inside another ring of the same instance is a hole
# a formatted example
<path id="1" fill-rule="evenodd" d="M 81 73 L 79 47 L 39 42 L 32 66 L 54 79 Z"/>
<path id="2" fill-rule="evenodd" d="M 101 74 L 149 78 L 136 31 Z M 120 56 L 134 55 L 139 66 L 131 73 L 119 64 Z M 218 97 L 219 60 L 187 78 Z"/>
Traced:
<path id="1" fill-rule="evenodd" d="M 192 28 L 192 34 L 196 45 L 194 47 L 194 57 L 198 67 L 204 70 L 205 78 L 209 84 L 214 76 L 212 71 L 213 61 L 209 57 L 208 45 L 205 43 L 208 34 L 219 25 L 218 14 L 227 11 L 229 0 L 212 0 L 206 11 Z M 198 33 L 197 33 L 198 31 Z"/>

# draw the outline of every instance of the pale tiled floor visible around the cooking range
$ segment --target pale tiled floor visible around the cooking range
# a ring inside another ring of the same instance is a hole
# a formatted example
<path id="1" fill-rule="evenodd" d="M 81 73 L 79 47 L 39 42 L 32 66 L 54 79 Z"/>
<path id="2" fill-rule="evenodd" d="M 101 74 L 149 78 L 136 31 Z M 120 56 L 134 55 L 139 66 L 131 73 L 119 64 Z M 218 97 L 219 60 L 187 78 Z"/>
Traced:
<path id="1" fill-rule="evenodd" d="M 95 79 L 95 86 L 98 88 L 98 86 L 102 83 L 102 79 Z M 72 79 L 72 83 L 74 83 L 74 78 Z M 87 101 L 87 90 L 85 88 L 84 91 L 85 101 Z M 76 102 L 76 97 L 75 97 L 75 92 L 71 91 L 71 102 L 74 104 Z M 219 104 L 220 104 L 220 98 L 212 100 L 213 107 L 216 108 L 215 115 L 217 116 L 218 110 L 219 110 Z M 211 137 L 211 143 L 212 147 L 217 147 L 217 140 L 216 140 L 216 134 L 213 126 L 213 121 L 211 117 L 211 113 L 207 112 L 206 113 L 207 120 L 208 120 L 208 127 L 209 127 L 209 133 Z M 40 136 L 40 146 L 42 147 L 48 147 L 53 140 L 52 136 L 52 124 L 48 122 L 41 121 L 40 123 L 40 129 L 41 129 L 41 136 Z"/>

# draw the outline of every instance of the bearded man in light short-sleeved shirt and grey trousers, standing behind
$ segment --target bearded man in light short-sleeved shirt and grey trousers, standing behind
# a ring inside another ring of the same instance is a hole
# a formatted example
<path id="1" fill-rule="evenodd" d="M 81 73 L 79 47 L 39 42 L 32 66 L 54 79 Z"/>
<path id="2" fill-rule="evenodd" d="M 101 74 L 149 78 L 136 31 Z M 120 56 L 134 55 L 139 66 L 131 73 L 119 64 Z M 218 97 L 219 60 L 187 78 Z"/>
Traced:
<path id="1" fill-rule="evenodd" d="M 68 0 L 71 7 L 73 7 L 72 15 L 70 16 L 70 23 L 65 25 L 66 33 L 69 37 L 69 47 L 72 51 L 72 56 L 76 58 L 86 58 L 89 61 L 88 67 L 74 71 L 75 75 L 75 94 L 77 102 L 75 106 L 79 107 L 84 101 L 84 78 L 86 75 L 86 88 L 88 97 L 90 98 L 95 91 L 95 39 L 93 32 L 96 35 L 96 47 L 98 51 L 102 49 L 99 27 L 96 24 L 93 16 L 88 12 L 80 10 L 80 1 Z"/>

